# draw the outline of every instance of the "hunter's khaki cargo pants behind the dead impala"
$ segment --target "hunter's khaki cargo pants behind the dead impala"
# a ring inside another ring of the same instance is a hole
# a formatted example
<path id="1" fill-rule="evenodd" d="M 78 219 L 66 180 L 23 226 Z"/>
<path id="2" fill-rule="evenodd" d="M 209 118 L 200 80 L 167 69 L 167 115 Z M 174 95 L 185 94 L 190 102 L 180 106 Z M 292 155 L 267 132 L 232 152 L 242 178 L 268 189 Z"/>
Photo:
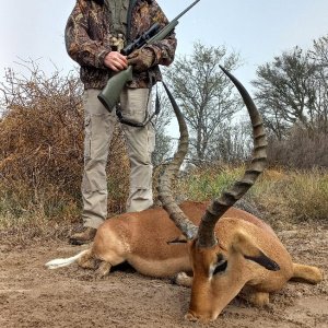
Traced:
<path id="1" fill-rule="evenodd" d="M 98 101 L 99 90 L 90 89 L 83 94 L 85 138 L 84 173 L 82 179 L 82 219 L 84 226 L 98 227 L 107 219 L 106 164 L 117 117 Z M 125 89 L 120 95 L 122 115 L 133 121 L 143 121 L 150 110 L 149 89 Z M 152 163 L 154 130 L 122 125 L 130 159 L 130 192 L 127 211 L 142 211 L 153 204 Z M 117 167 L 119 169 L 119 167 Z"/>

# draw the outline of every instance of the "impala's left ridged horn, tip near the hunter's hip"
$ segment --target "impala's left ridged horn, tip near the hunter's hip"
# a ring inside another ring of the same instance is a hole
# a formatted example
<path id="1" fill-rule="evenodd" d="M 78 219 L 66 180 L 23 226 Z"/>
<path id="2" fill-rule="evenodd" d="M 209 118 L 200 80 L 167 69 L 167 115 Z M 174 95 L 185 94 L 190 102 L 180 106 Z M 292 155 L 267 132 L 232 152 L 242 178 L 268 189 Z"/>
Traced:
<path id="1" fill-rule="evenodd" d="M 177 152 L 175 153 L 171 163 L 167 164 L 163 174 L 160 177 L 159 187 L 157 187 L 159 199 L 162 201 L 163 208 L 168 213 L 171 220 L 181 231 L 181 233 L 186 236 L 186 238 L 192 239 L 197 235 L 198 227 L 181 211 L 181 209 L 175 202 L 171 191 L 172 179 L 177 175 L 183 164 L 183 161 L 188 152 L 188 140 L 189 140 L 188 128 L 184 115 L 181 114 L 178 105 L 176 104 L 172 93 L 169 92 L 165 83 L 163 83 L 163 85 L 171 101 L 174 113 L 177 117 L 180 138 L 178 141 Z"/>

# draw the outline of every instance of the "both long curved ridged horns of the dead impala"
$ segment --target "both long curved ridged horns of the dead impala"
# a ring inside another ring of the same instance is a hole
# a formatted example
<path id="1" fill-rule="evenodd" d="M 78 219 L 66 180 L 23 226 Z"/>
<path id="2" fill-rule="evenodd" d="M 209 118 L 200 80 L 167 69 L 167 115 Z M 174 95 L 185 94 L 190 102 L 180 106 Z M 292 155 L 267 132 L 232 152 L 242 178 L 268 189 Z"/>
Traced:
<path id="1" fill-rule="evenodd" d="M 169 218 L 187 239 L 192 239 L 198 235 L 198 245 L 200 247 L 212 247 L 218 243 L 214 233 L 218 220 L 254 185 L 258 176 L 263 172 L 267 163 L 266 132 L 258 109 L 243 84 L 224 68 L 221 66 L 220 68 L 235 84 L 248 110 L 253 126 L 254 154 L 243 178 L 237 180 L 229 191 L 224 191 L 219 199 L 213 200 L 209 206 L 201 219 L 199 229 L 180 210 L 171 191 L 172 179 L 177 175 L 188 151 L 188 129 L 179 107 L 167 86 L 163 83 L 178 120 L 180 138 L 177 152 L 160 177 L 157 187 L 159 199 L 162 201 L 163 208 L 167 211 Z"/>

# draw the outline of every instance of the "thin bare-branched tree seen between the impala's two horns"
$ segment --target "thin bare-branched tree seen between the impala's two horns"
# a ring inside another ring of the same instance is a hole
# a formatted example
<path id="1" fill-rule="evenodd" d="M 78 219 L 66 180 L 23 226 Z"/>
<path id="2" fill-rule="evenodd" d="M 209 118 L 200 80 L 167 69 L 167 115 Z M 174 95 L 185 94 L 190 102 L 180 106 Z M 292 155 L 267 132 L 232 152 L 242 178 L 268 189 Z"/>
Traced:
<path id="1" fill-rule="evenodd" d="M 198 160 L 212 157 L 209 150 L 218 144 L 220 127 L 242 108 L 220 63 L 232 71 L 238 67 L 239 56 L 229 54 L 224 46 L 196 43 L 192 55 L 176 58 L 165 74 L 189 125 L 191 152 Z"/>

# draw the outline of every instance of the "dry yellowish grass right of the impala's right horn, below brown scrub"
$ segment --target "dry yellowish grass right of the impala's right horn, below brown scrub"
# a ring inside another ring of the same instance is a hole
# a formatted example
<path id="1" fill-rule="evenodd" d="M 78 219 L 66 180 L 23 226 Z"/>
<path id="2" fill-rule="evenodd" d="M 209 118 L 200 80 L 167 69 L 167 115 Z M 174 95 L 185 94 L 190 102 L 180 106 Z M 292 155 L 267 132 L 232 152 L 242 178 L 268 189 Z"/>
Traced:
<path id="1" fill-rule="evenodd" d="M 256 185 L 254 196 L 268 218 L 325 223 L 328 219 L 328 172 L 288 171 L 270 177 L 268 171 Z"/>

